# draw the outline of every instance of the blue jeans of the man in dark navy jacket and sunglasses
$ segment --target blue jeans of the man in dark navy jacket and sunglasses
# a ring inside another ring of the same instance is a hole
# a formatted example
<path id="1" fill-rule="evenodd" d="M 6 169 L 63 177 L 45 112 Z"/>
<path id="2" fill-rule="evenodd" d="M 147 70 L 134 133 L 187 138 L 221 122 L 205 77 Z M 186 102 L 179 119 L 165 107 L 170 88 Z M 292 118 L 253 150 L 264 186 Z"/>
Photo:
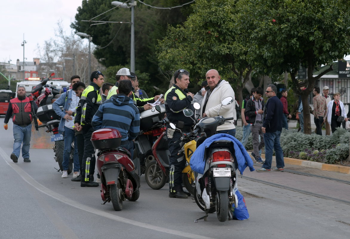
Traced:
<path id="1" fill-rule="evenodd" d="M 265 162 L 262 164 L 262 168 L 271 169 L 273 150 L 275 150 L 276 153 L 276 167 L 284 167 L 283 151 L 280 145 L 280 136 L 281 131 L 276 131 L 273 133 L 266 132 L 264 134 Z"/>

